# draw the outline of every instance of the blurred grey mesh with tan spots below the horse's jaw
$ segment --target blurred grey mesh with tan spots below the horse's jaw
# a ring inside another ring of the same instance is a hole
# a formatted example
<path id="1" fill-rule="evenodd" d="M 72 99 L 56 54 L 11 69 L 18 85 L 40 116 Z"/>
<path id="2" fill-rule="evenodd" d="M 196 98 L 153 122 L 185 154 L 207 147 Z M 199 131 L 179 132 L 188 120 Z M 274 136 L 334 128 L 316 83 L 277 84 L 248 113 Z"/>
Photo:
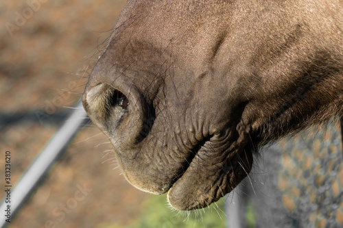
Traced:
<path id="1" fill-rule="evenodd" d="M 280 140 L 255 162 L 237 191 L 243 227 L 343 227 L 338 121 Z M 246 222 L 248 208 L 254 223 Z"/>

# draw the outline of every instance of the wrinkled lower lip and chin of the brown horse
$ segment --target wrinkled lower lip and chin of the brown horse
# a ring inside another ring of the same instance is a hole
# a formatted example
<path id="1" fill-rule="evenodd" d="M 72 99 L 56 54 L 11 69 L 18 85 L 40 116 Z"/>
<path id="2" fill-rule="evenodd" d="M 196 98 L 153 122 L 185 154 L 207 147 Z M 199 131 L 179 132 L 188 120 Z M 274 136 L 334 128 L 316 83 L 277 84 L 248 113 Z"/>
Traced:
<path id="1" fill-rule="evenodd" d="M 194 210 L 209 206 L 224 197 L 250 172 L 252 153 L 207 151 L 209 139 L 198 144 L 189 166 L 178 175 L 167 192 L 169 204 L 176 210 Z M 222 157 L 217 160 L 217 154 Z M 211 161 L 211 162 L 209 162 Z"/>

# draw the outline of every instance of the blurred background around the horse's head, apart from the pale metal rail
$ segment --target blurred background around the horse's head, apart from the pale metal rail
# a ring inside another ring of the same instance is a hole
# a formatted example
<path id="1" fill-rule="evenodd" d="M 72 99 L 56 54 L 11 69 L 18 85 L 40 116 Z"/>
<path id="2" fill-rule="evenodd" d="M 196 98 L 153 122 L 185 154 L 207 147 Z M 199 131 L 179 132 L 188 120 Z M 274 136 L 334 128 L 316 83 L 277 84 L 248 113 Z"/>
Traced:
<path id="1" fill-rule="evenodd" d="M 125 2 L 0 1 L 0 167 L 11 151 L 12 183 L 80 99 Z M 255 158 L 235 190 L 242 227 L 342 226 L 342 136 L 339 123 L 328 129 L 286 138 Z M 175 212 L 165 195 L 130 186 L 110 149 L 95 126 L 84 125 L 8 227 L 226 227 L 224 201 L 232 196 Z"/>

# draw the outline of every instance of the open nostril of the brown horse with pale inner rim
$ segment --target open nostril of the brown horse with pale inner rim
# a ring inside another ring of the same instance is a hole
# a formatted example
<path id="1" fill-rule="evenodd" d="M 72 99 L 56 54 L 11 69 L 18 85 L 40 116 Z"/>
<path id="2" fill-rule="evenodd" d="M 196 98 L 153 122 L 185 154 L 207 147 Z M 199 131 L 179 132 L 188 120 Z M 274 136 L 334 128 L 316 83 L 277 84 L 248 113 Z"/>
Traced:
<path id="1" fill-rule="evenodd" d="M 92 81 L 91 75 L 82 103 L 91 121 L 110 138 L 118 152 L 130 151 L 141 140 L 145 122 L 143 102 L 132 84 L 128 86 L 120 80 Z"/>

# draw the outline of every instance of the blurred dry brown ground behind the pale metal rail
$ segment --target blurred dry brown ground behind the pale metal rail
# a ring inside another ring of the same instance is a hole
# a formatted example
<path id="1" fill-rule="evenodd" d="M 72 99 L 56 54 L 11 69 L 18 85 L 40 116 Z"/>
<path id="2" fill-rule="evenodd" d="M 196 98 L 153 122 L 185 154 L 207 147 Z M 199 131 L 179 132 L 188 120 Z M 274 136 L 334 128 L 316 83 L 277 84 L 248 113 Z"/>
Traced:
<path id="1" fill-rule="evenodd" d="M 35 10 L 29 11 L 30 3 L 36 4 Z M 24 116 L 10 125 L 0 125 L 0 167 L 4 167 L 5 151 L 11 151 L 12 183 L 56 131 L 58 126 L 50 123 L 51 116 L 68 110 L 80 98 L 86 76 L 124 3 L 0 2 L 0 112 Z M 20 21 L 18 15 L 25 20 Z M 37 110 L 44 114 L 40 119 Z M 36 116 L 36 121 L 25 118 L 27 115 Z M 140 214 L 139 205 L 147 194 L 132 188 L 118 169 L 113 170 L 115 164 L 108 160 L 111 155 L 104 153 L 110 145 L 102 144 L 107 140 L 99 133 L 91 125 L 78 134 L 8 227 L 125 225 Z M 0 183 L 3 179 L 4 171 L 0 171 Z M 84 185 L 91 192 L 63 212 L 61 207 L 72 205 L 78 186 Z M 1 191 L 1 199 L 3 195 Z"/>

